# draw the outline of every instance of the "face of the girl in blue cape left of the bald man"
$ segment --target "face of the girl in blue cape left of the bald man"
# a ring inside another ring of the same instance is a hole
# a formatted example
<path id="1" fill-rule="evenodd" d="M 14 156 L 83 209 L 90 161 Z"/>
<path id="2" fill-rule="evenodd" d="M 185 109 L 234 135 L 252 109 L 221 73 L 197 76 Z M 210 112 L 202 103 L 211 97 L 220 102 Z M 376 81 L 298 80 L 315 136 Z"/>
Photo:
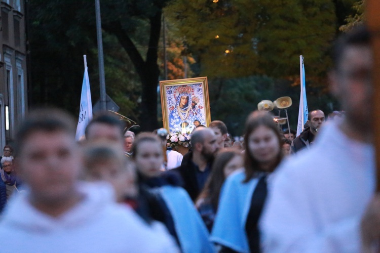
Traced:
<path id="1" fill-rule="evenodd" d="M 157 177 L 164 162 L 159 142 L 144 141 L 138 144 L 135 154 L 137 170 L 145 177 Z"/>

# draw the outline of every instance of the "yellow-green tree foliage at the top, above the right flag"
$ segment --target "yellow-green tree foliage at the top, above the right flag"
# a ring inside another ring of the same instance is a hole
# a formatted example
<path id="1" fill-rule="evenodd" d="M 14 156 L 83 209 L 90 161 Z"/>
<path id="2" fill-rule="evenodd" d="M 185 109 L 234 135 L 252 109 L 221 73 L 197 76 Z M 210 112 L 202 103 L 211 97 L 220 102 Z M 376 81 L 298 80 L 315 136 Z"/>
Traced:
<path id="1" fill-rule="evenodd" d="M 318 75 L 335 35 L 331 0 L 175 0 L 165 11 L 209 77 L 288 77 L 298 74 L 299 55 Z"/>

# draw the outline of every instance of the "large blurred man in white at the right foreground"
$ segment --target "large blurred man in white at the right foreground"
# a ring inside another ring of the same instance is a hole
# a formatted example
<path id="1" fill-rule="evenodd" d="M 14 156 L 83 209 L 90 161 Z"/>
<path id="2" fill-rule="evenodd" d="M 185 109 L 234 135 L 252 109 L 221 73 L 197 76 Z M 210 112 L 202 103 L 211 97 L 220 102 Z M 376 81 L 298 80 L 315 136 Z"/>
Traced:
<path id="1" fill-rule="evenodd" d="M 379 245 L 367 29 L 341 37 L 333 60 L 330 88 L 345 117 L 328 121 L 312 149 L 279 168 L 260 222 L 265 252 L 368 252 Z"/>

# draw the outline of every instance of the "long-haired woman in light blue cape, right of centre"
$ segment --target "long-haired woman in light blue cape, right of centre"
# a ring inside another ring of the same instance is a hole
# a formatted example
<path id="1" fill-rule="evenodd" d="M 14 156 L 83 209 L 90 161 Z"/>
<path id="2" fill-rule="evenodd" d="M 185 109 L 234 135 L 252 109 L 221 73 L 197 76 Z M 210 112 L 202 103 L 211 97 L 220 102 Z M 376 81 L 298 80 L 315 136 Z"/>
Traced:
<path id="1" fill-rule="evenodd" d="M 211 240 L 221 252 L 259 252 L 258 220 L 267 196 L 267 178 L 281 162 L 282 137 L 267 112 L 252 112 L 245 124 L 245 170 L 226 179 Z"/>

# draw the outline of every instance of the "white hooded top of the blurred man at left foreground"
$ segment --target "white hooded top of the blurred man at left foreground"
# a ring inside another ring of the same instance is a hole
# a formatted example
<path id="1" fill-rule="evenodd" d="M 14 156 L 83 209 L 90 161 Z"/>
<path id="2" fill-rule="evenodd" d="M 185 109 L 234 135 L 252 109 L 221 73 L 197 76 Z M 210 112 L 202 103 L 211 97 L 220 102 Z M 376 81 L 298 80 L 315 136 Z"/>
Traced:
<path id="1" fill-rule="evenodd" d="M 115 202 L 106 183 L 80 183 L 84 198 L 58 218 L 17 194 L 0 222 L 2 252 L 177 252 L 172 238 L 155 232 L 127 205 Z"/>

